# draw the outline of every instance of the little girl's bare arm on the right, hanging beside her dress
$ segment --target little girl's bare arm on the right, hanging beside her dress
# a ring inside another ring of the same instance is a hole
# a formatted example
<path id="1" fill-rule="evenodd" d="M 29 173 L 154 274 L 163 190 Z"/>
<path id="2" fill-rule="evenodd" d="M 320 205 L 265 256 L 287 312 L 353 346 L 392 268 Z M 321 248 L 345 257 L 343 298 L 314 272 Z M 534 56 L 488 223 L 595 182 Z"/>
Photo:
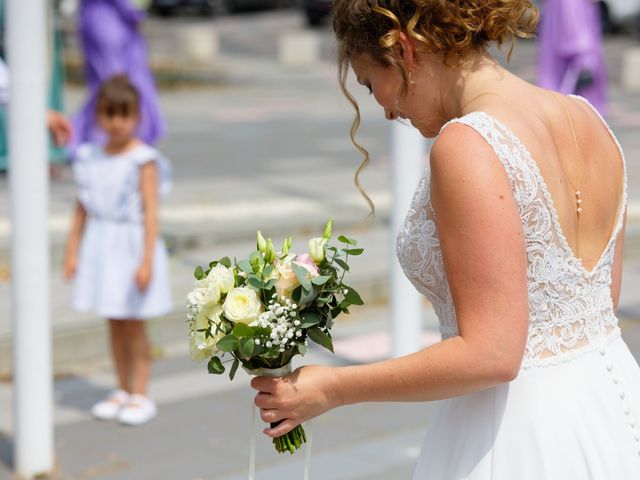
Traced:
<path id="1" fill-rule="evenodd" d="M 144 253 L 136 273 L 136 283 L 140 290 L 146 290 L 151 281 L 153 253 L 158 237 L 158 170 L 156 162 L 146 162 L 140 167 L 140 193 L 144 211 Z"/>

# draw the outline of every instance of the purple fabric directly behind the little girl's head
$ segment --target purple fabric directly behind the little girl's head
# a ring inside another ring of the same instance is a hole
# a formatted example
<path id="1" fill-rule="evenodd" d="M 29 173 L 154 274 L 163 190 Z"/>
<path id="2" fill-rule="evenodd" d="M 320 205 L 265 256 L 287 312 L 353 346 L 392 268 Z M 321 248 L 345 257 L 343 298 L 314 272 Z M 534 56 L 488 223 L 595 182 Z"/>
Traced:
<path id="1" fill-rule="evenodd" d="M 140 92 L 138 137 L 147 144 L 156 143 L 166 126 L 158 105 L 157 91 L 147 62 L 147 48 L 139 25 L 144 13 L 128 0 L 83 0 L 79 16 L 79 34 L 85 58 L 87 102 L 73 119 L 73 154 L 81 143 L 102 144 L 104 133 L 95 118 L 100 85 L 113 75 L 124 73 Z"/>

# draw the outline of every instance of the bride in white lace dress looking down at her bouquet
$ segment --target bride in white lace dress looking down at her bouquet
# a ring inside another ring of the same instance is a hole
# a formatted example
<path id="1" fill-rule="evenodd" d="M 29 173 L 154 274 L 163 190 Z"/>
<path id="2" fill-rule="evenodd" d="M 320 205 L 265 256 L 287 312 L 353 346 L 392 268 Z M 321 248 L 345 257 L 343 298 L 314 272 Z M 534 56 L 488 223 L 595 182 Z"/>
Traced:
<path id="1" fill-rule="evenodd" d="M 345 93 L 351 68 L 387 119 L 436 137 L 397 251 L 443 340 L 255 378 L 262 419 L 282 421 L 267 435 L 341 405 L 440 400 L 416 479 L 640 478 L 640 369 L 614 313 L 623 153 L 586 100 L 488 53 L 537 19 L 527 0 L 335 2 Z"/>

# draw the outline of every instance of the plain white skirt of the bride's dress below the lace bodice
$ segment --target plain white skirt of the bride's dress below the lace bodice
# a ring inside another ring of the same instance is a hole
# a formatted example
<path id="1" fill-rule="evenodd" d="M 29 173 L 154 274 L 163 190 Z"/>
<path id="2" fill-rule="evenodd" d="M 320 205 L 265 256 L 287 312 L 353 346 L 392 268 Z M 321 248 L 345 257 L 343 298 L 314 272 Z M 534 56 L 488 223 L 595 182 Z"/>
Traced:
<path id="1" fill-rule="evenodd" d="M 440 402 L 414 480 L 640 479 L 640 368 L 620 330 L 565 355 Z"/>

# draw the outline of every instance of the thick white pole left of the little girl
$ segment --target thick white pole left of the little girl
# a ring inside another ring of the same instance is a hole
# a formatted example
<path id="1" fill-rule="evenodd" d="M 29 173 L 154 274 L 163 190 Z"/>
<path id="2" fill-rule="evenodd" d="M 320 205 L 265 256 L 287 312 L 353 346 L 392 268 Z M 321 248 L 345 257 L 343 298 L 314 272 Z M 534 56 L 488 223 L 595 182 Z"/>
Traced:
<path id="1" fill-rule="evenodd" d="M 25 478 L 47 474 L 54 465 L 45 129 L 47 3 L 9 0 L 6 12 L 14 464 Z"/>

